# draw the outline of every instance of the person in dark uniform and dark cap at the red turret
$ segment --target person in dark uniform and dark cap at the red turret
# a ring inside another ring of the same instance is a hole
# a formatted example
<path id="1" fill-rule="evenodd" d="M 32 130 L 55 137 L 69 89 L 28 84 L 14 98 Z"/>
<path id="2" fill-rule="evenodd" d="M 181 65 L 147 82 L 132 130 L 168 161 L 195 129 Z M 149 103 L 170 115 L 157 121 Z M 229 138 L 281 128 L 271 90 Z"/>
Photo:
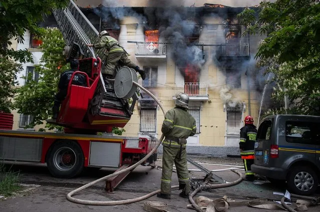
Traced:
<path id="1" fill-rule="evenodd" d="M 59 108 L 60 108 L 61 102 L 67 96 L 68 84 L 69 84 L 69 81 L 70 81 L 72 74 L 78 70 L 79 60 L 72 59 L 70 61 L 70 67 L 71 67 L 71 70 L 67 70 L 60 75 L 59 84 L 58 84 L 59 91 L 55 96 L 54 106 L 52 107 L 52 110 L 53 110 L 53 117 L 52 118 L 53 119 L 58 118 Z M 74 78 L 72 79 L 72 84 L 85 86 L 86 85 L 86 77 L 82 74 L 75 74 Z"/>

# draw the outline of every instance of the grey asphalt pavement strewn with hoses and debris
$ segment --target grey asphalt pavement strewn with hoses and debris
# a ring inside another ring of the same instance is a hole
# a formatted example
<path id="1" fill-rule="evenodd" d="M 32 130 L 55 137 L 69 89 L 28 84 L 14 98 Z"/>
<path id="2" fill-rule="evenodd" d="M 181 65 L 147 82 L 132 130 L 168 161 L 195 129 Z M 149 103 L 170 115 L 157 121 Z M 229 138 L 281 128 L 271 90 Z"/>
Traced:
<path id="1" fill-rule="evenodd" d="M 215 158 L 193 158 L 195 161 L 210 163 L 203 164 L 208 170 L 226 169 L 235 166 L 242 167 L 242 162 L 239 159 L 215 159 Z M 126 200 L 140 197 L 160 189 L 161 178 L 161 163 L 159 160 L 156 162 L 157 168 L 138 166 L 127 178 L 115 189 L 113 193 L 107 193 L 104 190 L 104 182 L 98 183 L 86 190 L 77 193 L 75 198 L 85 200 L 100 200 L 100 201 L 113 201 L 113 200 Z M 221 166 L 222 165 L 222 166 Z M 229 166 L 224 166 L 229 165 Z M 234 165 L 234 166 L 230 166 Z M 8 164 L 12 166 L 12 164 Z M 192 165 L 188 166 L 189 169 L 197 169 Z M 66 195 L 74 189 L 83 186 L 96 179 L 104 177 L 114 172 L 110 169 L 100 170 L 86 170 L 81 176 L 74 179 L 58 179 L 52 177 L 45 165 L 30 164 L 30 163 L 15 163 L 12 169 L 20 171 L 21 183 L 28 185 L 40 185 L 40 187 L 29 190 L 28 192 L 21 193 L 15 197 L 0 200 L 1 212 L 88 212 L 95 210 L 97 212 L 143 212 L 143 204 L 145 201 L 138 203 L 118 205 L 118 206 L 86 206 L 69 202 Z M 241 173 L 244 174 L 243 171 Z M 238 176 L 232 171 L 215 172 L 215 174 L 227 182 L 238 179 Z M 190 172 L 192 178 L 204 178 L 203 172 Z M 255 184 L 259 183 L 259 184 Z M 172 185 L 178 185 L 176 173 L 172 176 Z M 279 201 L 281 196 L 273 195 L 273 192 L 285 192 L 285 185 L 275 186 L 271 183 L 264 181 L 256 181 L 254 183 L 242 181 L 240 184 L 222 189 L 215 189 L 209 191 L 202 191 L 197 195 L 205 196 L 210 199 L 222 198 L 227 196 L 231 200 L 253 200 L 255 198 L 265 198 L 268 200 Z M 320 196 L 317 192 L 315 196 Z M 187 199 L 182 199 L 178 196 L 179 191 L 172 191 L 171 200 L 164 200 L 153 196 L 148 201 L 161 201 L 168 204 L 168 211 L 170 212 L 195 212 L 194 210 L 187 209 L 189 203 Z M 264 209 L 243 207 L 231 207 L 228 212 L 262 212 L 271 211 Z M 309 212 L 320 211 L 320 206 L 309 207 Z"/>

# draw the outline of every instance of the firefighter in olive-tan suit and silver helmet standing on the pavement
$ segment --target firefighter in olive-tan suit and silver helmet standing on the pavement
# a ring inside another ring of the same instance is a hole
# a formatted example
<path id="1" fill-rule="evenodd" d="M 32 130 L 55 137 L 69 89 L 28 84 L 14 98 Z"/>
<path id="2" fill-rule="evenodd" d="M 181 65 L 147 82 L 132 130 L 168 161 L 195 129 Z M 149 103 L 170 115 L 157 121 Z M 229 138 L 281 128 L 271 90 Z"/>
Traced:
<path id="1" fill-rule="evenodd" d="M 188 198 L 190 192 L 186 139 L 196 133 L 196 121 L 188 112 L 189 96 L 187 94 L 180 93 L 175 104 L 176 107 L 166 113 L 161 128 L 165 139 L 162 142 L 161 193 L 157 196 L 164 199 L 170 199 L 173 163 L 177 169 L 179 190 L 182 190 L 179 196 Z"/>

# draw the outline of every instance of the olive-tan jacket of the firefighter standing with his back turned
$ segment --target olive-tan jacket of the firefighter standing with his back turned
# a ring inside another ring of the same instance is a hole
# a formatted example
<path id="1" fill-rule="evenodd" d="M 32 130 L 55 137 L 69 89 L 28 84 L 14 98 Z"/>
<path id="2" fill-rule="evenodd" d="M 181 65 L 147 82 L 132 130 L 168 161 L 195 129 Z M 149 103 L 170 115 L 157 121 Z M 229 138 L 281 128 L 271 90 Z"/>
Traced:
<path id="1" fill-rule="evenodd" d="M 165 135 L 163 146 L 180 148 L 179 138 L 187 139 L 197 131 L 196 121 L 187 109 L 175 107 L 169 110 L 162 123 L 161 132 Z M 185 148 L 186 144 L 182 144 Z"/>

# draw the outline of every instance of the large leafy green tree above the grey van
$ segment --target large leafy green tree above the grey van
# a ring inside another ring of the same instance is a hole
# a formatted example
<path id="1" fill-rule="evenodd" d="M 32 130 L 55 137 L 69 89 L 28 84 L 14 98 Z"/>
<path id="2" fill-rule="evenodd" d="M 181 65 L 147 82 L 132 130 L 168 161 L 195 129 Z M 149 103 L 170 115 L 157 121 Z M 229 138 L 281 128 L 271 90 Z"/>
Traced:
<path id="1" fill-rule="evenodd" d="M 262 1 L 257 9 L 238 14 L 244 34 L 265 34 L 255 56 L 276 82 L 272 98 L 290 108 L 274 108 L 267 114 L 320 115 L 320 4 L 318 0 Z"/>

